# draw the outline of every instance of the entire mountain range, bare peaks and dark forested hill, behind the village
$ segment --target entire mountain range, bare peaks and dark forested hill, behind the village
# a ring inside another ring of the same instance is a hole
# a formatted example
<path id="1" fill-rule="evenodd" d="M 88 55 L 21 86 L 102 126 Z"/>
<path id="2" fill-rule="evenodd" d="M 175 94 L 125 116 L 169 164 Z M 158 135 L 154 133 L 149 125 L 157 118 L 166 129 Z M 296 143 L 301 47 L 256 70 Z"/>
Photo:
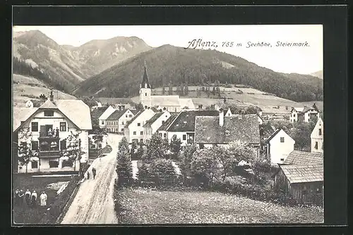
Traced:
<path id="1" fill-rule="evenodd" d="M 13 56 L 42 72 L 41 80 L 75 96 L 131 97 L 138 94 L 143 66 L 152 87 L 181 83 L 245 84 L 293 101 L 323 99 L 313 75 L 285 74 L 216 50 L 148 46 L 138 37 L 59 45 L 38 30 L 13 34 Z"/>

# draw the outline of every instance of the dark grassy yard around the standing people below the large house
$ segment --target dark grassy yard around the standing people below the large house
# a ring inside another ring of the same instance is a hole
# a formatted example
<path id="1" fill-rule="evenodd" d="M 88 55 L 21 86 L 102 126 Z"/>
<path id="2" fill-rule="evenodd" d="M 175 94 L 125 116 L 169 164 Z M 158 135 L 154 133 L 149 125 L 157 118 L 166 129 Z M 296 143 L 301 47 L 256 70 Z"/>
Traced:
<path id="1" fill-rule="evenodd" d="M 15 224 L 38 224 L 42 219 L 44 213 L 49 208 L 49 205 L 54 203 L 56 197 L 56 191 L 59 190 L 58 182 L 68 182 L 70 181 L 70 176 L 68 177 L 31 177 L 25 174 L 14 174 L 13 175 L 13 190 L 22 189 L 23 193 L 29 189 L 30 192 L 37 192 L 37 201 L 39 201 L 40 193 L 45 191 L 48 196 L 47 206 L 41 207 L 37 205 L 35 207 L 30 207 L 25 205 L 25 203 L 20 203 L 16 205 L 13 202 L 13 222 Z M 49 184 L 54 184 L 48 187 Z"/>

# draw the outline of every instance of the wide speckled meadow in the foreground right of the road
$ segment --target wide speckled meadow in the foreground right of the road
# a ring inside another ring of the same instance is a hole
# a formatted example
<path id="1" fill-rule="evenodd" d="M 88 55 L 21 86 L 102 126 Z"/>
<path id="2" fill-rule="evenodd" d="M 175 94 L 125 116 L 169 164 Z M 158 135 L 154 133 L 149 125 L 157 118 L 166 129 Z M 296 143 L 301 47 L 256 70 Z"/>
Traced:
<path id="1" fill-rule="evenodd" d="M 119 191 L 120 224 L 321 223 L 321 208 L 291 208 L 201 191 Z"/>

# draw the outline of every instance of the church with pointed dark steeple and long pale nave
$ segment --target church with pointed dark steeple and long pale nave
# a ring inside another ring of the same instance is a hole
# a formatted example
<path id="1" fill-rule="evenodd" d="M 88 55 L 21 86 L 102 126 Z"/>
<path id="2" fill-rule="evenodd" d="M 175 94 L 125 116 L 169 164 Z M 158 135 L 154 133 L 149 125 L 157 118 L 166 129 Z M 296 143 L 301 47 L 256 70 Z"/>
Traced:
<path id="1" fill-rule="evenodd" d="M 146 65 L 140 84 L 140 103 L 145 108 L 157 108 L 157 110 L 167 110 L 174 113 L 179 113 L 181 110 L 195 110 L 192 99 L 181 99 L 179 96 L 152 96 Z"/>

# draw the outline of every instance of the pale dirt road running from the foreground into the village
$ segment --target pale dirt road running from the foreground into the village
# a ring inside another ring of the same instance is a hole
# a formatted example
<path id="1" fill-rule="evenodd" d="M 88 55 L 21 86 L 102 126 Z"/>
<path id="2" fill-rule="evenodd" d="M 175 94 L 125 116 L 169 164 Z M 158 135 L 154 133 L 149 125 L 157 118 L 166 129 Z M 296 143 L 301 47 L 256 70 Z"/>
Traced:
<path id="1" fill-rule="evenodd" d="M 61 224 L 117 224 L 114 212 L 113 191 L 116 177 L 116 151 L 122 136 L 109 134 L 107 141 L 113 151 L 97 158 L 88 169 L 90 179 L 80 185 Z M 97 170 L 95 179 L 92 167 Z"/>

